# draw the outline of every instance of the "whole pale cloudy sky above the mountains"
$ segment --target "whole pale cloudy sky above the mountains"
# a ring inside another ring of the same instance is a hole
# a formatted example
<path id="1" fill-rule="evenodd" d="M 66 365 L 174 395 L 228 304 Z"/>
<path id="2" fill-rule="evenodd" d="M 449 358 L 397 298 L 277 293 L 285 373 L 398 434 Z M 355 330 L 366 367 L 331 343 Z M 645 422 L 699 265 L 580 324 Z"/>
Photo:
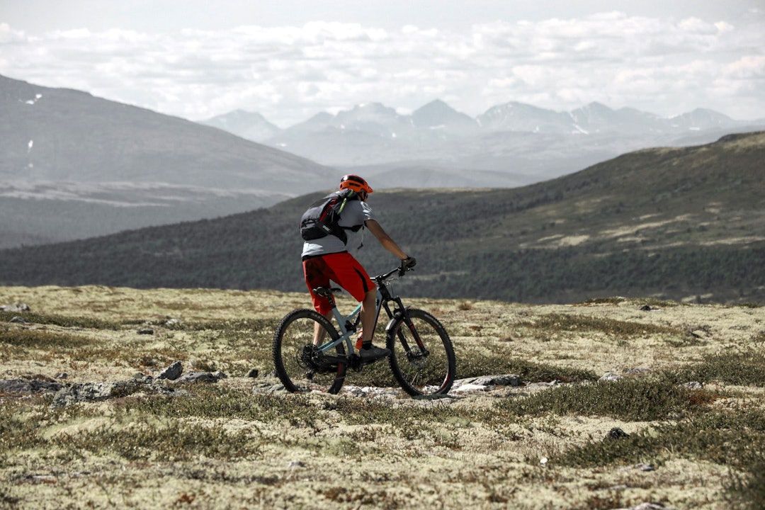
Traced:
<path id="1" fill-rule="evenodd" d="M 765 0 L 0 0 L 0 74 L 281 128 L 435 99 L 765 119 Z"/>

